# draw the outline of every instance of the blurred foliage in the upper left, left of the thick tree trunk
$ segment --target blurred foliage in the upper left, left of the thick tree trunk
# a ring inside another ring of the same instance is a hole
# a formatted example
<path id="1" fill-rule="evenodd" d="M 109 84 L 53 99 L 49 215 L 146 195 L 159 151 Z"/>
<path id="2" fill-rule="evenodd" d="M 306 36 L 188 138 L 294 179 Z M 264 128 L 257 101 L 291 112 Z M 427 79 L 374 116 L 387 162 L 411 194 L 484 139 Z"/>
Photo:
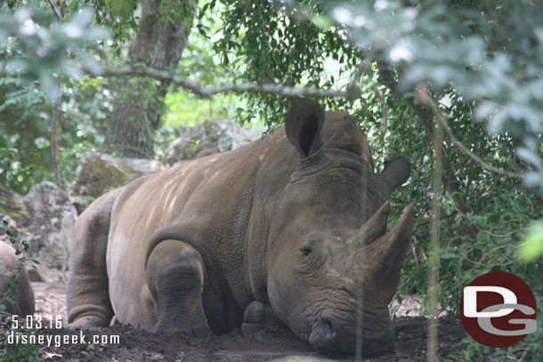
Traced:
<path id="1" fill-rule="evenodd" d="M 107 34 L 87 28 L 93 12 L 66 13 L 61 25 L 49 8 L 30 5 L 0 5 L 0 44 L 5 45 L 0 46 L 0 182 L 20 193 L 37 182 L 53 181 L 50 129 L 57 105 L 52 101 L 61 97 L 60 156 L 66 165 L 61 179 L 67 181 L 81 150 L 97 148 L 109 108 L 109 91 L 100 80 L 65 77 L 58 83 L 61 74 L 79 74 L 76 61 L 93 66 L 85 46 Z M 15 10 L 2 12 L 6 8 Z"/>

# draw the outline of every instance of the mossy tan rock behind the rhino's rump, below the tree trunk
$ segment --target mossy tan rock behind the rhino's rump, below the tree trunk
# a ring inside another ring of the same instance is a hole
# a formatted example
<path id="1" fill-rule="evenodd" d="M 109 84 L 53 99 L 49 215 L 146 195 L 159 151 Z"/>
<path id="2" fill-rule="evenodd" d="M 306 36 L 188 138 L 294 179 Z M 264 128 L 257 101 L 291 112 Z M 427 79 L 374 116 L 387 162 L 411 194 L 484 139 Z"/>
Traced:
<path id="1" fill-rule="evenodd" d="M 86 153 L 77 166 L 70 194 L 78 197 L 100 197 L 110 189 L 124 186 L 142 175 L 156 173 L 164 167 L 156 160 Z"/>

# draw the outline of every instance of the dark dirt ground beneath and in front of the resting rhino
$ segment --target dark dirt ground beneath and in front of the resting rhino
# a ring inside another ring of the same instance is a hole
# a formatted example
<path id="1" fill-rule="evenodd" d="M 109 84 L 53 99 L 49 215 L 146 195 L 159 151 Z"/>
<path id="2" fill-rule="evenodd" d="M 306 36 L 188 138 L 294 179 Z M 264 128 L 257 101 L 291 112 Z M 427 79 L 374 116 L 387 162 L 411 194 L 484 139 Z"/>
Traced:
<path id="1" fill-rule="evenodd" d="M 44 319 L 66 314 L 64 288 L 61 285 L 33 283 L 36 294 L 36 315 Z M 402 305 L 400 315 L 417 308 L 417 302 Z M 426 322 L 422 317 L 395 318 L 396 350 L 394 354 L 367 361 L 425 361 Z M 6 318 L 0 323 L 0 353 L 4 350 L 11 329 Z M 37 334 L 50 338 L 51 346 L 40 345 L 38 360 L 43 361 L 353 361 L 353 357 L 322 356 L 301 342 L 288 330 L 270 327 L 258 334 L 242 336 L 239 330 L 209 339 L 188 340 L 176 334 L 152 334 L 128 326 L 113 326 L 93 330 L 77 328 L 40 329 Z M 58 343 L 63 335 L 85 335 L 85 344 Z M 118 335 L 119 343 L 91 343 L 93 335 L 100 338 Z M 49 336 L 49 337 L 47 337 Z M 442 361 L 457 360 L 452 354 L 463 350 L 462 339 L 466 336 L 459 320 L 440 319 L 439 354 Z"/>

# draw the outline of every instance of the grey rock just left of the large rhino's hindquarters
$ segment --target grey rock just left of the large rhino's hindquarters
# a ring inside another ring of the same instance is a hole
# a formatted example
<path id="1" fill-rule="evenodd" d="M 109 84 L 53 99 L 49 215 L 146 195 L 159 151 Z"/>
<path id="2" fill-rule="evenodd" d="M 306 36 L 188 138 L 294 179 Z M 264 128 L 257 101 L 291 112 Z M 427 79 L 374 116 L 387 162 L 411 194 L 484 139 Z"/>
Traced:
<path id="1" fill-rule="evenodd" d="M 52 182 L 42 182 L 30 189 L 23 204 L 27 213 L 19 226 L 28 234 L 20 234 L 28 241 L 27 257 L 41 262 L 42 275 L 44 267 L 66 269 L 69 239 L 77 215 L 68 194 Z"/>

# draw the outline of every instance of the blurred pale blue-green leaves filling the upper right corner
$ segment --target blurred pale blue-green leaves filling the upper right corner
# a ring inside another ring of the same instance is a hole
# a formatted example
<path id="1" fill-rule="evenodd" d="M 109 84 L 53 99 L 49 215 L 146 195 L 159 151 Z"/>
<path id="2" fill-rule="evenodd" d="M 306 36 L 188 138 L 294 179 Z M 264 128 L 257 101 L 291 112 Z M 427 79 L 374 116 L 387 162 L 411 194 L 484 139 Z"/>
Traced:
<path id="1" fill-rule="evenodd" d="M 521 141 L 527 186 L 543 189 L 541 5 L 504 1 L 332 1 L 326 13 L 370 59 L 401 73 L 401 89 L 452 86 L 491 134 Z"/>

